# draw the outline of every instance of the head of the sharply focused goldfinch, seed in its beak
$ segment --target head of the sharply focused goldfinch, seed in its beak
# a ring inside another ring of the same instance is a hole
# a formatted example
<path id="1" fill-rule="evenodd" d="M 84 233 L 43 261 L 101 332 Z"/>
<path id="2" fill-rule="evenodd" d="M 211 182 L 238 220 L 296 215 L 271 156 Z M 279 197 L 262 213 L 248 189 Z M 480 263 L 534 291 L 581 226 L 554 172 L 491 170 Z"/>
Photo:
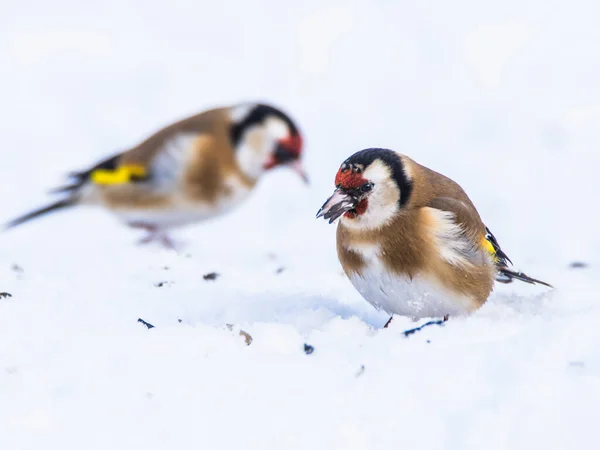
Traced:
<path id="1" fill-rule="evenodd" d="M 373 229 L 388 223 L 408 203 L 413 184 L 401 156 L 387 149 L 361 150 L 340 166 L 335 191 L 318 217 L 329 223 Z"/>

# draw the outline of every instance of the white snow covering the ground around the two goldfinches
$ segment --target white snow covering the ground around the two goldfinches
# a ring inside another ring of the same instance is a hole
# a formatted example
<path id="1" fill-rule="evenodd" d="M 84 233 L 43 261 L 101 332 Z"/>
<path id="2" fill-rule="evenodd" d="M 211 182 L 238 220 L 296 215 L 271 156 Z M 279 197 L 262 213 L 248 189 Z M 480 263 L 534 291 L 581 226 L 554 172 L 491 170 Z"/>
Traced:
<path id="1" fill-rule="evenodd" d="M 598 13 L 4 2 L 1 222 L 156 127 L 247 100 L 298 121 L 312 184 L 269 174 L 177 232 L 181 254 L 94 209 L 0 234 L 0 449 L 596 448 Z M 367 146 L 461 183 L 516 266 L 557 289 L 498 286 L 471 317 L 381 330 L 314 219 Z"/>

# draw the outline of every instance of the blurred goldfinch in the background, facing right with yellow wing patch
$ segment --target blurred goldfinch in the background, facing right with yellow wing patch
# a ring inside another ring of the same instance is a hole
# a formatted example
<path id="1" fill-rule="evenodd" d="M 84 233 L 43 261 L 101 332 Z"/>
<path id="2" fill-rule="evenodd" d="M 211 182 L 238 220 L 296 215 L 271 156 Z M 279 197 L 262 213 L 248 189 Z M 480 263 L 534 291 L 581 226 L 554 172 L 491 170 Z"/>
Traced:
<path id="1" fill-rule="evenodd" d="M 247 102 L 210 109 L 72 172 L 68 184 L 51 191 L 59 199 L 11 220 L 5 229 L 58 210 L 94 205 L 145 230 L 140 243 L 158 241 L 173 248 L 170 229 L 230 211 L 271 169 L 291 168 L 308 183 L 302 149 L 297 125 L 272 105 Z"/>

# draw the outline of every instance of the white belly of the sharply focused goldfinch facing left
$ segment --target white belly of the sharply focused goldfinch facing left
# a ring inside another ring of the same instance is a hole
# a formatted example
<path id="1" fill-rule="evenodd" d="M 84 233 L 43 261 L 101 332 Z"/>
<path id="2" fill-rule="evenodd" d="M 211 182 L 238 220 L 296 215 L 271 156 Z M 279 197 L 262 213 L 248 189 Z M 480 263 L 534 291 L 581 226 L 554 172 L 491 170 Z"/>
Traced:
<path id="1" fill-rule="evenodd" d="M 464 315 L 475 304 L 467 296 L 456 294 L 432 277 L 419 274 L 410 279 L 388 271 L 376 248 L 356 247 L 365 259 L 361 274 L 349 278 L 360 294 L 378 310 L 414 318 Z"/>

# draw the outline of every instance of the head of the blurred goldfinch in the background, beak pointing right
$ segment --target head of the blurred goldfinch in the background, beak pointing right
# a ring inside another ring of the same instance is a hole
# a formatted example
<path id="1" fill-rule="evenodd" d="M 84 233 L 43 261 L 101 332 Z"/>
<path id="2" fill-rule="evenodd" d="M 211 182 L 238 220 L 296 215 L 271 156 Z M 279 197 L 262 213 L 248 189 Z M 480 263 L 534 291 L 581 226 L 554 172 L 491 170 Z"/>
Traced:
<path id="1" fill-rule="evenodd" d="M 296 124 L 281 110 L 261 103 L 231 108 L 230 139 L 242 171 L 257 179 L 275 167 L 288 167 L 304 182 L 301 163 L 302 136 Z"/>

